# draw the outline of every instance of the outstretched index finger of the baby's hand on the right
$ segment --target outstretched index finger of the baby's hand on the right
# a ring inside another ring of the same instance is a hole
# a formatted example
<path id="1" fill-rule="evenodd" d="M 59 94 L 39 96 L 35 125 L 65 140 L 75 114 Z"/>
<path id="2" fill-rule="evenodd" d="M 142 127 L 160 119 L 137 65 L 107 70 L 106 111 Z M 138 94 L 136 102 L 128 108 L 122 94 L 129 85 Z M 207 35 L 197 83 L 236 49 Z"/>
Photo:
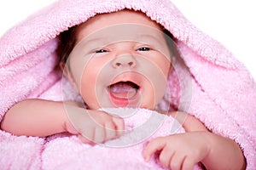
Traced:
<path id="1" fill-rule="evenodd" d="M 143 155 L 144 155 L 145 161 L 149 161 L 150 157 L 156 151 L 163 150 L 165 146 L 166 146 L 166 141 L 161 138 L 153 139 L 152 141 L 150 141 L 144 150 Z"/>

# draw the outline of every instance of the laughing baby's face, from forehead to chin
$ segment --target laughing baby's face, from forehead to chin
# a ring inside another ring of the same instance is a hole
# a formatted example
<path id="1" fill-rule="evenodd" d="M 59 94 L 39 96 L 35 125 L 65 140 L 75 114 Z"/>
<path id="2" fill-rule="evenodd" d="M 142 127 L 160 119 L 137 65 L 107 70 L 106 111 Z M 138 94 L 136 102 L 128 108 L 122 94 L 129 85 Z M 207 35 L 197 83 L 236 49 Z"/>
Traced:
<path id="1" fill-rule="evenodd" d="M 160 26 L 125 10 L 96 15 L 77 31 L 68 78 L 89 108 L 154 109 L 171 66 Z"/>

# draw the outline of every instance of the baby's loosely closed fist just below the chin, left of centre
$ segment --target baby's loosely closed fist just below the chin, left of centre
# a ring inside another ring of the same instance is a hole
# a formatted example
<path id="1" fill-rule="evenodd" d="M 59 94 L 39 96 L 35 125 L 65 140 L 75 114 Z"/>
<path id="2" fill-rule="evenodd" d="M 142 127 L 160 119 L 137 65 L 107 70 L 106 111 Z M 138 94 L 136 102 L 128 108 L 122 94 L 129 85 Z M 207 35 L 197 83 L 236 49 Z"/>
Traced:
<path id="1" fill-rule="evenodd" d="M 67 132 L 78 134 L 86 144 L 103 143 L 116 139 L 125 130 L 123 119 L 103 111 L 85 110 L 75 106 L 67 108 Z"/>

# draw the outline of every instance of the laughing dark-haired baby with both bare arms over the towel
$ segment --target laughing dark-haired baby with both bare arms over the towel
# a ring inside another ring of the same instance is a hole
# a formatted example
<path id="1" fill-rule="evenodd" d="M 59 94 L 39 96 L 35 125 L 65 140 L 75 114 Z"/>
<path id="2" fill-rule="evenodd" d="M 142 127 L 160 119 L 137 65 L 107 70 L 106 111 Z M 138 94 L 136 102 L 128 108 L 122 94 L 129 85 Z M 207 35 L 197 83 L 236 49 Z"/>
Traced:
<path id="1" fill-rule="evenodd" d="M 4 116 L 3 130 L 38 137 L 68 132 L 87 144 L 103 143 L 119 138 L 125 125 L 119 116 L 99 109 L 154 110 L 166 93 L 171 63 L 178 56 L 163 27 L 145 14 L 131 10 L 97 14 L 63 35 L 61 69 L 87 109 L 73 101 L 26 99 Z M 184 117 L 183 112 L 166 114 L 177 117 L 186 133 L 151 140 L 143 151 L 145 161 L 157 153 L 163 167 L 172 169 L 192 169 L 198 162 L 207 169 L 245 168 L 233 140 L 210 133 L 193 116 L 178 118 Z"/>

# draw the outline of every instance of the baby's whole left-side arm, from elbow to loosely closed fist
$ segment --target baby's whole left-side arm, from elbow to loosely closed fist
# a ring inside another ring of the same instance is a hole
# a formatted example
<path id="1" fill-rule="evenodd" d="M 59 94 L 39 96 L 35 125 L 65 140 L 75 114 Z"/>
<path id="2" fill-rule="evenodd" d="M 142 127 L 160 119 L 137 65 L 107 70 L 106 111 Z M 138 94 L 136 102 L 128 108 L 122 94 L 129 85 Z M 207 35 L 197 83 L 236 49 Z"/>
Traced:
<path id="1" fill-rule="evenodd" d="M 69 132 L 78 134 L 79 138 L 86 143 L 113 139 L 119 136 L 119 133 L 113 132 L 124 129 L 123 120 L 118 117 L 110 116 L 102 111 L 84 110 L 76 103 L 70 103 L 66 107 L 72 108 L 76 116 L 79 116 L 78 126 L 70 122 L 63 102 L 26 99 L 14 105 L 6 113 L 1 129 L 15 135 L 38 137 Z"/>

